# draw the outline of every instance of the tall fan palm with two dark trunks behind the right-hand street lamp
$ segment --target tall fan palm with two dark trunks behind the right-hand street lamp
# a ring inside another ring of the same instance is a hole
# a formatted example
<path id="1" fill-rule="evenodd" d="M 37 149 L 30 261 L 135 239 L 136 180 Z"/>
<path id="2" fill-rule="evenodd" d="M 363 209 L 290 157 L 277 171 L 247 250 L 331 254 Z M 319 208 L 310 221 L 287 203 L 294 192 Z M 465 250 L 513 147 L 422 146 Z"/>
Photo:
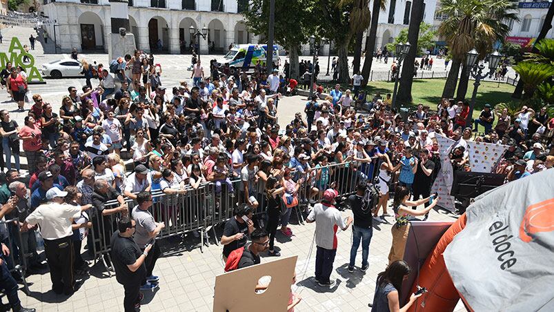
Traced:
<path id="1" fill-rule="evenodd" d="M 439 35 L 446 37 L 452 54 L 452 67 L 448 73 L 442 97 L 451 98 L 457 84 L 459 68 L 466 53 L 476 48 L 484 59 L 497 40 L 503 40 L 510 28 L 508 21 L 516 21 L 517 5 L 511 0 L 441 0 L 439 12 L 448 18 L 439 26 Z M 462 70 L 458 97 L 465 97 L 468 77 Z"/>

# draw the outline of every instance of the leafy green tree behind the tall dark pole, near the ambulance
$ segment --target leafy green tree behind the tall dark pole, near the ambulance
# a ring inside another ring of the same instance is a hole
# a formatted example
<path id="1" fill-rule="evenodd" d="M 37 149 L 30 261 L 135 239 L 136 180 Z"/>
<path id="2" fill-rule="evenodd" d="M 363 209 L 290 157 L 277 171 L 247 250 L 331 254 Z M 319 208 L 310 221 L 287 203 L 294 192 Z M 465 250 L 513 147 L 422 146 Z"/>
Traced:
<path id="1" fill-rule="evenodd" d="M 288 50 L 291 78 L 298 79 L 300 46 L 315 31 L 314 7 L 315 0 L 275 1 L 275 43 Z M 243 14 L 248 31 L 267 37 L 269 0 L 251 1 L 250 7 Z"/>

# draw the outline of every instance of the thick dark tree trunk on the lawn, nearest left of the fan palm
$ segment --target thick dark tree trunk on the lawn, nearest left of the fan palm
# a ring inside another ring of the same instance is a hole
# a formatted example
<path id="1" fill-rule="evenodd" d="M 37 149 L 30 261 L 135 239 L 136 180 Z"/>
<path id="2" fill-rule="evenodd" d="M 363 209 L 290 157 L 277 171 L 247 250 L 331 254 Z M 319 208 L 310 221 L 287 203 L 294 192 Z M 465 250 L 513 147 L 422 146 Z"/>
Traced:
<path id="1" fill-rule="evenodd" d="M 397 102 L 399 104 L 410 104 L 412 102 L 412 82 L 415 55 L 417 54 L 417 39 L 419 38 L 419 25 L 423 18 L 423 0 L 415 0 L 410 14 L 410 26 L 408 28 L 408 42 L 410 50 L 404 61 L 402 61 L 402 76 L 398 86 Z M 398 107 L 398 106 L 397 106 Z"/>

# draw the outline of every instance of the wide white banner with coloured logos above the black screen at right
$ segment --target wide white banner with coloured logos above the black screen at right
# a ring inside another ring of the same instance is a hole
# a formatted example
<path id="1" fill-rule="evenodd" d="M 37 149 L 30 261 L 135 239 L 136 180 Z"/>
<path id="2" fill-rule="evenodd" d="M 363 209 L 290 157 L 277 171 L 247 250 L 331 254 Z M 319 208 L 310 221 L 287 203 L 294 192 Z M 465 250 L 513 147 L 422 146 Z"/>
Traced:
<path id="1" fill-rule="evenodd" d="M 491 173 L 508 146 L 484 142 L 467 142 L 469 164 L 474 173 Z"/>

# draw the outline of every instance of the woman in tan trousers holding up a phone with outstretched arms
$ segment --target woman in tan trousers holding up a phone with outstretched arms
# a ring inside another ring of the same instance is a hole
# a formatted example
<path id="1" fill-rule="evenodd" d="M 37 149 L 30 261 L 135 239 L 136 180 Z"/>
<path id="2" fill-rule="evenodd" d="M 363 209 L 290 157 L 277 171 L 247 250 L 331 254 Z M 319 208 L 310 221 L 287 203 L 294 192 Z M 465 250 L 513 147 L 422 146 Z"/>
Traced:
<path id="1" fill-rule="evenodd" d="M 435 195 L 431 195 L 435 197 Z M 417 207 L 431 201 L 431 197 L 424 199 L 417 199 L 415 201 L 410 199 L 410 190 L 406 186 L 398 186 L 395 191 L 395 199 L 393 201 L 393 211 L 395 212 L 396 223 L 390 230 L 393 233 L 393 244 L 390 246 L 390 253 L 388 253 L 388 263 L 391 264 L 396 260 L 404 259 L 404 250 L 406 248 L 406 240 L 408 240 L 408 232 L 410 231 L 410 220 L 414 220 L 414 217 L 426 215 L 437 204 L 437 198 L 433 199 L 433 202 L 426 206 L 423 210 L 417 211 L 408 207 Z"/>

